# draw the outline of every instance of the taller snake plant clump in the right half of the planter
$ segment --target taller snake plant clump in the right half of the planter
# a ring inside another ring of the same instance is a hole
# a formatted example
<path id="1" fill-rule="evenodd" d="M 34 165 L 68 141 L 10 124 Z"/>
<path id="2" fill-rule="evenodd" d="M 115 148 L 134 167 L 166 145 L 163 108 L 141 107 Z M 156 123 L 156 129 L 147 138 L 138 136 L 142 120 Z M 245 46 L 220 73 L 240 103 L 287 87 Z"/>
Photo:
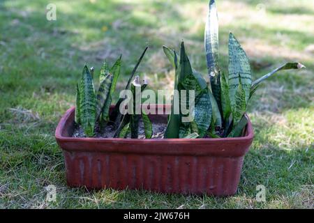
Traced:
<path id="1" fill-rule="evenodd" d="M 232 33 L 229 35 L 228 74 L 218 65 L 218 15 L 214 0 L 209 1 L 209 11 L 204 33 L 204 48 L 207 59 L 209 84 L 190 66 L 190 61 L 181 43 L 180 55 L 163 47 L 176 72 L 175 90 L 195 90 L 194 120 L 182 123 L 184 114 L 174 114 L 174 101 L 168 120 L 165 138 L 186 138 L 193 134 L 207 137 L 241 137 L 247 124 L 246 107 L 259 84 L 280 70 L 304 68 L 301 63 L 285 63 L 267 75 L 252 81 L 252 72 L 246 52 Z M 179 96 L 180 103 L 184 98 Z"/>

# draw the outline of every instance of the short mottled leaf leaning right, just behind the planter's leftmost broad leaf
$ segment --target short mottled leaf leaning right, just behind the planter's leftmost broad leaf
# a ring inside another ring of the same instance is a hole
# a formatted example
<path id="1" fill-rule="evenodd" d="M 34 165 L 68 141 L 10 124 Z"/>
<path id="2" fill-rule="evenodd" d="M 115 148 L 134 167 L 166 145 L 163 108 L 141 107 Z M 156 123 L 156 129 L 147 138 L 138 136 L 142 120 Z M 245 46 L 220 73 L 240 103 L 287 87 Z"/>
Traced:
<path id="1" fill-rule="evenodd" d="M 100 117 L 103 107 L 110 93 L 110 87 L 112 85 L 112 75 L 108 74 L 103 82 L 100 83 L 97 95 L 96 95 L 96 121 Z"/>

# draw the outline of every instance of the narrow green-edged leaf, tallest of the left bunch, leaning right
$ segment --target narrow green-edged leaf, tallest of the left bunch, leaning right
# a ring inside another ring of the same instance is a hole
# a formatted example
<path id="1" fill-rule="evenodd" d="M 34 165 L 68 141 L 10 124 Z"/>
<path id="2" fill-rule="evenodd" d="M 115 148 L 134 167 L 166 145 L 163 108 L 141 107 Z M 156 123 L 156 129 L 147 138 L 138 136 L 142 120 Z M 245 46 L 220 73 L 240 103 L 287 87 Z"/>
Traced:
<path id="1" fill-rule="evenodd" d="M 114 94 L 114 91 L 117 86 L 117 80 L 120 75 L 121 70 L 121 56 L 117 61 L 114 63 L 112 68 L 110 68 L 110 74 L 112 74 L 112 84 L 110 86 L 110 92 L 108 93 L 107 99 L 105 100 L 105 105 L 103 106 L 103 111 L 101 113 L 101 126 L 102 128 L 107 125 L 107 122 L 109 121 L 109 109 L 112 102 L 112 97 Z"/>

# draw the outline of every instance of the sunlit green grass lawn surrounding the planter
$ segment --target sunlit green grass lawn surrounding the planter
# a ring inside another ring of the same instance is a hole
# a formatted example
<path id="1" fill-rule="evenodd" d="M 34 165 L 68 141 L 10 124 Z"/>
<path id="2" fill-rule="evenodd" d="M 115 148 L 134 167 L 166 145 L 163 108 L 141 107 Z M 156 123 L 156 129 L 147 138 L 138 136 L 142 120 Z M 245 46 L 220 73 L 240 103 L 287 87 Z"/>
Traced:
<path id="1" fill-rule="evenodd" d="M 161 46 L 178 49 L 184 39 L 193 66 L 205 74 L 207 1 L 52 2 L 55 22 L 45 19 L 51 1 L 0 2 L 0 208 L 313 208 L 313 2 L 217 1 L 223 70 L 229 31 L 248 53 L 255 78 L 284 61 L 307 67 L 272 77 L 251 100 L 255 139 L 239 190 L 227 198 L 70 189 L 54 139 L 61 115 L 75 103 L 84 63 L 99 72 L 105 57 L 112 62 L 123 54 L 125 83 L 150 45 L 139 73 L 151 89 L 171 89 L 174 72 Z M 50 184 L 57 186 L 53 203 L 45 201 Z M 260 184 L 266 202 L 255 199 Z"/>

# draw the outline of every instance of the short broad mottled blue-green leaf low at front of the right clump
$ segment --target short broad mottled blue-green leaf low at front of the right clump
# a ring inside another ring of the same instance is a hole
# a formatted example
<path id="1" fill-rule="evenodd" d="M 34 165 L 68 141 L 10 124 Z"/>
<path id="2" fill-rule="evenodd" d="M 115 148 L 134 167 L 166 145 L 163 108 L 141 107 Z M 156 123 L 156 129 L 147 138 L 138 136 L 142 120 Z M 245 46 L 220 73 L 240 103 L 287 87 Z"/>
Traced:
<path id="1" fill-rule="evenodd" d="M 195 123 L 197 124 L 198 134 L 200 138 L 204 137 L 206 134 L 209 125 L 211 124 L 211 100 L 209 98 L 209 93 L 202 93 L 195 103 Z"/>

